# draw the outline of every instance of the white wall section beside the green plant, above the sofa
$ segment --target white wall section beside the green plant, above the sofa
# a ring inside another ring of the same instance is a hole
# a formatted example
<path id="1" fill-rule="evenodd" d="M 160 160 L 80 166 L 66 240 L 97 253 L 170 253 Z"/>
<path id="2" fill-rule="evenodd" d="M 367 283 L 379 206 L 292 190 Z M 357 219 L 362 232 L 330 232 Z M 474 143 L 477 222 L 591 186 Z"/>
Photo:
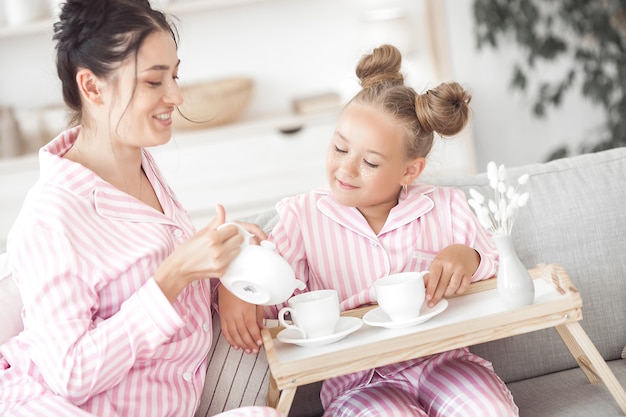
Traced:
<path id="1" fill-rule="evenodd" d="M 512 65 L 520 52 L 509 44 L 497 51 L 476 50 L 472 0 L 445 0 L 452 71 L 473 92 L 474 143 L 477 163 L 490 160 L 518 165 L 545 160 L 563 144 L 576 147 L 603 120 L 599 108 L 578 91 L 566 96 L 548 117 L 531 114 L 531 99 L 509 87 Z M 540 69 L 545 75 L 546 70 Z"/>

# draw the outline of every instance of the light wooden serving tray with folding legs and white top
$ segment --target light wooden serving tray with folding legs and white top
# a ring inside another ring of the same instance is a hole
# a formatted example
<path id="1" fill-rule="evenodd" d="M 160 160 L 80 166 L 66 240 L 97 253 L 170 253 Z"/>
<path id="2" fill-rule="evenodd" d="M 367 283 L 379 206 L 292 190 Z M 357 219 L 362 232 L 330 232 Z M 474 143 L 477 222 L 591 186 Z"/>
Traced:
<path id="1" fill-rule="evenodd" d="M 496 339 L 556 328 L 590 382 L 603 381 L 626 413 L 626 393 L 578 321 L 582 299 L 557 264 L 531 269 L 533 304 L 507 309 L 495 278 L 473 283 L 465 294 L 448 299 L 448 308 L 415 327 L 387 329 L 366 324 L 346 338 L 323 346 L 302 347 L 276 339 L 282 328 L 263 329 L 271 371 L 268 405 L 288 414 L 296 388 L 327 378 Z M 376 306 L 342 313 L 363 317 Z"/>

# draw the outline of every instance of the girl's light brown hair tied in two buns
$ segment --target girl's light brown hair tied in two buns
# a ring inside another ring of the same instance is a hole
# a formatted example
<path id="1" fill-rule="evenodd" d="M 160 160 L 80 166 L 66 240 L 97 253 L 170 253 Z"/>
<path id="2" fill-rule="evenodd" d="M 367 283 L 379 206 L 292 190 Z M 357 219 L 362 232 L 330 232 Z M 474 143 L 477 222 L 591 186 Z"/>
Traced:
<path id="1" fill-rule="evenodd" d="M 390 114 L 407 135 L 407 156 L 425 157 L 433 145 L 433 132 L 459 133 L 469 119 L 471 95 L 458 83 L 442 83 L 418 94 L 404 85 L 402 55 L 392 45 L 375 48 L 356 67 L 362 90 L 351 102 L 374 106 Z"/>

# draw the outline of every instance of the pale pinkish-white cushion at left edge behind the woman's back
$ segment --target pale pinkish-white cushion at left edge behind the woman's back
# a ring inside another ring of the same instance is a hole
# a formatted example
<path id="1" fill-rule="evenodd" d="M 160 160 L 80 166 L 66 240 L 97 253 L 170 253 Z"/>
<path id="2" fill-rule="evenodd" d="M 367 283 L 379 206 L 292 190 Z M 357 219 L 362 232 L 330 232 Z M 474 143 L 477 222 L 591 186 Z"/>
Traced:
<path id="1" fill-rule="evenodd" d="M 0 253 L 0 344 L 24 329 L 22 325 L 22 299 L 20 292 L 11 278 L 9 259 Z"/>

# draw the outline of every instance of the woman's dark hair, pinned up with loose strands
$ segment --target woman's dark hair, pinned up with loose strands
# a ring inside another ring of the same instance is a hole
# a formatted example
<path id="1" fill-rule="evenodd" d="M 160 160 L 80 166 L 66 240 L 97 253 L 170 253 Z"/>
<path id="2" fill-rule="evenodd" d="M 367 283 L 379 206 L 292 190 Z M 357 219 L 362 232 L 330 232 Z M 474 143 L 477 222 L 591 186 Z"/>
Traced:
<path id="1" fill-rule="evenodd" d="M 63 100 L 73 110 L 71 125 L 80 123 L 83 106 L 76 84 L 79 69 L 106 78 L 137 52 L 148 35 L 171 33 L 175 27 L 152 9 L 149 0 L 67 0 L 54 24 L 57 74 Z"/>

